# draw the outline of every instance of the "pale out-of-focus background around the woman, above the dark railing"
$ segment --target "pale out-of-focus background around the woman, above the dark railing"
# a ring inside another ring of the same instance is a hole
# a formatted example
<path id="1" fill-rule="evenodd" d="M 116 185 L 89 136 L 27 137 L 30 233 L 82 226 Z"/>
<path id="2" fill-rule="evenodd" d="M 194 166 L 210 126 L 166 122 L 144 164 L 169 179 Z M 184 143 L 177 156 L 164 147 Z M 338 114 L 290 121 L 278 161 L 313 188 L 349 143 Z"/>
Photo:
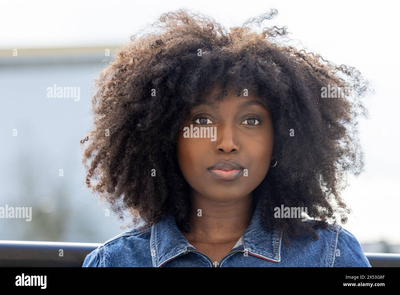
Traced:
<path id="1" fill-rule="evenodd" d="M 0 218 L 0 240 L 102 243 L 129 230 L 107 214 L 84 182 L 80 140 L 91 125 L 94 77 L 118 46 L 163 12 L 188 8 L 228 29 L 276 8 L 278 16 L 263 26 L 288 26 L 289 37 L 307 50 L 354 66 L 372 81 L 375 94 L 364 99 L 370 118 L 359 122 L 366 166 L 358 178 L 349 178 L 342 194 L 353 210 L 343 226 L 365 252 L 400 253 L 400 62 L 392 53 L 399 45 L 398 6 L 389 1 L 3 2 L 0 207 L 32 207 L 32 220 Z M 54 85 L 79 88 L 79 96 L 48 97 Z"/>

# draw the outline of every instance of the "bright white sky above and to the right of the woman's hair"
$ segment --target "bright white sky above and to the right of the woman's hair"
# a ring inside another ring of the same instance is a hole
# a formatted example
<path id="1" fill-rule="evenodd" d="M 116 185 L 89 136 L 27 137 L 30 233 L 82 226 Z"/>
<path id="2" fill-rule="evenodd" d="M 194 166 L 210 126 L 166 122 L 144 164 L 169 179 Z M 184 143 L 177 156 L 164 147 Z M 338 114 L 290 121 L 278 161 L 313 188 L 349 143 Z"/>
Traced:
<path id="1" fill-rule="evenodd" d="M 344 227 L 364 242 L 400 243 L 398 1 L 4 1 L 0 49 L 119 46 L 163 12 L 190 8 L 226 27 L 278 9 L 264 25 L 286 25 L 325 59 L 352 65 L 371 79 L 370 119 L 360 123 L 366 172 L 344 192 L 354 217 Z"/>

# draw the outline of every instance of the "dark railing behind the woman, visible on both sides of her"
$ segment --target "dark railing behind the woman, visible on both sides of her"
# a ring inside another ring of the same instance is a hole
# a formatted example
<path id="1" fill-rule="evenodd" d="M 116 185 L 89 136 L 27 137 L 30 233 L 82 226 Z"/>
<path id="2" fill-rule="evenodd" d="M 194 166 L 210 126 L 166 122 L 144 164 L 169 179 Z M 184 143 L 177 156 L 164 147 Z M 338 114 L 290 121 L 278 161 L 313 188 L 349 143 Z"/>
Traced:
<path id="1" fill-rule="evenodd" d="M 0 240 L 0 267 L 81 267 L 97 243 Z M 365 253 L 372 267 L 400 267 L 400 254 Z"/>

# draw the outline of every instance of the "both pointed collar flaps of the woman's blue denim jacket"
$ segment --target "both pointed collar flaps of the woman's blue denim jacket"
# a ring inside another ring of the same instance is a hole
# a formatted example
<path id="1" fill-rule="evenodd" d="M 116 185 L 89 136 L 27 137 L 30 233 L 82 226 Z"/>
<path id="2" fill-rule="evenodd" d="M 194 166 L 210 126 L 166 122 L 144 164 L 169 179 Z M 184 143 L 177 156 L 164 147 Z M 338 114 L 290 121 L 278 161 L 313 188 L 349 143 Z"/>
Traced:
<path id="1" fill-rule="evenodd" d="M 282 231 L 266 230 L 261 221 L 261 213 L 262 202 L 258 202 L 252 220 L 241 237 L 240 247 L 256 257 L 280 262 Z M 162 217 L 159 222 L 152 225 L 150 248 L 153 267 L 160 267 L 170 259 L 186 253 L 190 246 L 178 229 L 172 214 Z"/>

